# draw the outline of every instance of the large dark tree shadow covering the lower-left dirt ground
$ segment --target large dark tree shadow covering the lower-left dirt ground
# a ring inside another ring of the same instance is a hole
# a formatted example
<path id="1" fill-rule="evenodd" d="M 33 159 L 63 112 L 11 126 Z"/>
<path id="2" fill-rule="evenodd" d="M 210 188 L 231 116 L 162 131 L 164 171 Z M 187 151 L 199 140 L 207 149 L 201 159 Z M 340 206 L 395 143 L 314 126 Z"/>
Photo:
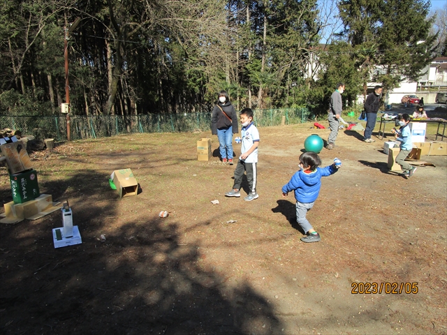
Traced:
<path id="1" fill-rule="evenodd" d="M 66 189 L 86 173 L 46 187 Z M 154 216 L 110 229 L 116 201 L 76 214 L 75 246 L 54 248 L 60 213 L 0 226 L 1 334 L 281 332 L 272 306 L 248 283 L 226 283 L 226 273 L 203 265 L 198 244 L 179 244 L 182 223 Z"/>

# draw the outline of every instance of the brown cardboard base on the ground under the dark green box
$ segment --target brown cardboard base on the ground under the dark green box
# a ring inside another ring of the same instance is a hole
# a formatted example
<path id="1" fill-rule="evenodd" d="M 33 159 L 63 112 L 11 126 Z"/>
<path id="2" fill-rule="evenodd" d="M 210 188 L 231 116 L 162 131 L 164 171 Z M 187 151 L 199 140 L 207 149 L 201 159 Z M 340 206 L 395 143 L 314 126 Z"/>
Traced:
<path id="1" fill-rule="evenodd" d="M 57 211 L 61 208 L 61 202 L 53 202 L 52 196 L 49 194 L 41 194 L 35 200 L 24 202 L 23 204 L 15 204 L 13 201 L 5 204 L 5 213 L 0 214 L 4 218 L 1 223 L 17 223 L 28 220 L 37 220 L 42 216 Z"/>

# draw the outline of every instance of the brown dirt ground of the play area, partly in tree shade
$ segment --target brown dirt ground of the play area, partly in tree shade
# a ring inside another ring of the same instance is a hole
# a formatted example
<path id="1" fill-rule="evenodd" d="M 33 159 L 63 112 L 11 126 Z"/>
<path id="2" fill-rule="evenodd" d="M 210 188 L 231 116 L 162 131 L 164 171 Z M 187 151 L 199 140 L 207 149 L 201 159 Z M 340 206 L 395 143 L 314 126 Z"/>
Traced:
<path id="1" fill-rule="evenodd" d="M 220 163 L 217 137 L 212 161 L 196 161 L 196 141 L 210 133 L 31 154 L 41 193 L 70 201 L 82 244 L 54 248 L 59 211 L 0 223 L 1 334 L 447 334 L 447 156 L 423 156 L 436 167 L 406 179 L 388 170 L 382 141 L 340 131 L 321 158 L 343 166 L 308 214 L 322 240 L 305 244 L 281 186 L 305 138 L 328 136 L 309 126 L 260 129 L 252 202 L 246 191 L 224 197 L 235 166 Z M 110 189 L 122 168 L 138 195 Z M 4 167 L 0 198 L 12 200 Z"/>

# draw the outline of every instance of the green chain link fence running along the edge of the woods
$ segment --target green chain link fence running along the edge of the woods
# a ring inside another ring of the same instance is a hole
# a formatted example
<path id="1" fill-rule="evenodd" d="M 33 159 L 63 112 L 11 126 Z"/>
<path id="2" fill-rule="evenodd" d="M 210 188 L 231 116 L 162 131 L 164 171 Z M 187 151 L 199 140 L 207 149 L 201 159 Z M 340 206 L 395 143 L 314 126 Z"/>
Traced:
<path id="1" fill-rule="evenodd" d="M 258 127 L 300 124 L 309 119 L 307 108 L 281 108 L 254 110 L 254 122 Z M 67 140 L 66 115 L 9 116 L 0 115 L 0 129 L 19 130 L 22 135 L 34 135 L 37 139 L 54 138 Z M 126 133 L 179 133 L 210 131 L 211 113 L 101 115 L 70 117 L 71 140 L 108 137 Z"/>

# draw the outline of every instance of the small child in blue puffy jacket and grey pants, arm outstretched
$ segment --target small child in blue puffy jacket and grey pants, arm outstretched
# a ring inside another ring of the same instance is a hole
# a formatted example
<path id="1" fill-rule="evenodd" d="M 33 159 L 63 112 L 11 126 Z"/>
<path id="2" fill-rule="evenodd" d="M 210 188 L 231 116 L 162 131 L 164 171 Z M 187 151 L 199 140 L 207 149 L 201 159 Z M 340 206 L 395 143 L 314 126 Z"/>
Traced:
<path id="1" fill-rule="evenodd" d="M 295 191 L 296 199 L 296 221 L 305 231 L 307 236 L 301 237 L 303 242 L 318 242 L 321 237 L 307 221 L 307 211 L 314 207 L 318 193 L 320 193 L 321 177 L 328 177 L 337 172 L 341 164 L 335 166 L 335 163 L 325 168 L 318 168 L 321 165 L 321 159 L 314 152 L 305 152 L 300 156 L 300 168 L 293 174 L 289 181 L 282 188 L 282 196 L 285 198 L 289 192 Z"/>

